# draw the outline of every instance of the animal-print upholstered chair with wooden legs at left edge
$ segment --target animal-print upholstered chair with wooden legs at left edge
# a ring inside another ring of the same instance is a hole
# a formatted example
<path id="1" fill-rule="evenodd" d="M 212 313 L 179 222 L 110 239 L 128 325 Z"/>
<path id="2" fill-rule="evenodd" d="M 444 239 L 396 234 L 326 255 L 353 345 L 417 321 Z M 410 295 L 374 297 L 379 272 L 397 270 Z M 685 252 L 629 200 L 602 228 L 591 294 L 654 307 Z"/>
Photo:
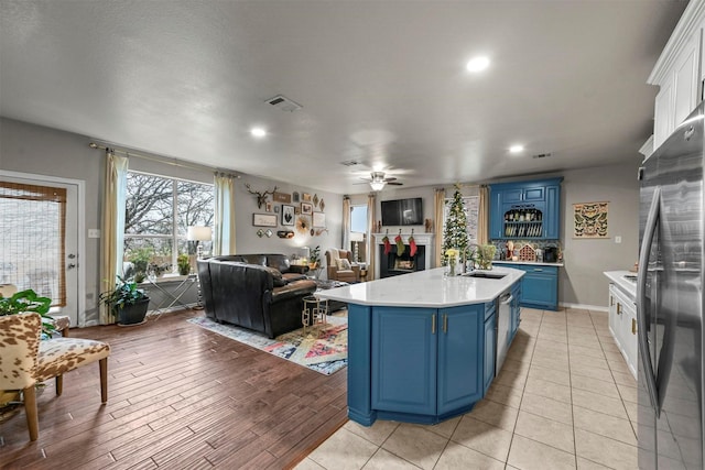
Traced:
<path id="1" fill-rule="evenodd" d="M 39 437 L 36 411 L 37 382 L 56 379 L 56 394 L 63 392 L 63 374 L 98 361 L 100 398 L 108 401 L 108 356 L 110 347 L 101 341 L 78 338 L 41 340 L 42 317 L 39 314 L 0 317 L 0 390 L 22 391 L 30 440 Z"/>

